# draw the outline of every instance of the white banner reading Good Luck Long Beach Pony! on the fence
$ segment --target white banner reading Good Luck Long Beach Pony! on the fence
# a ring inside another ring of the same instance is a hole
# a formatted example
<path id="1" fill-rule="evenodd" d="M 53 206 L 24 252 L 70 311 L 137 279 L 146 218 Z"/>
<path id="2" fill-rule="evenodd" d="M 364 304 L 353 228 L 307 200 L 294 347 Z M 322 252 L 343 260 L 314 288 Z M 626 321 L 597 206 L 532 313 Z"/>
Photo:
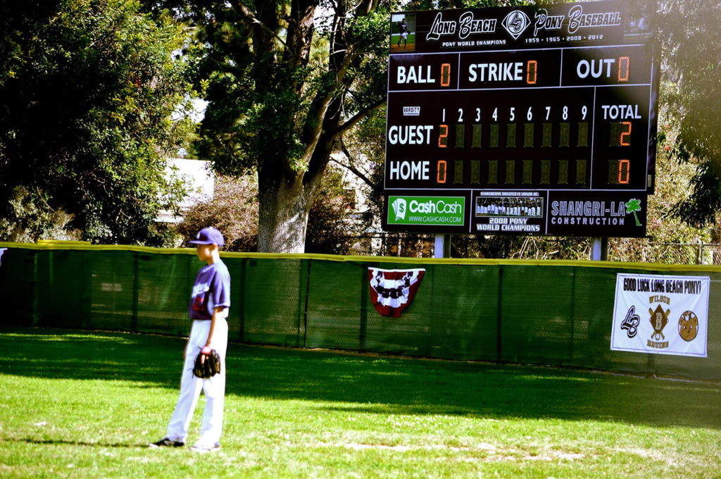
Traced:
<path id="1" fill-rule="evenodd" d="M 708 276 L 616 276 L 611 349 L 707 357 Z"/>

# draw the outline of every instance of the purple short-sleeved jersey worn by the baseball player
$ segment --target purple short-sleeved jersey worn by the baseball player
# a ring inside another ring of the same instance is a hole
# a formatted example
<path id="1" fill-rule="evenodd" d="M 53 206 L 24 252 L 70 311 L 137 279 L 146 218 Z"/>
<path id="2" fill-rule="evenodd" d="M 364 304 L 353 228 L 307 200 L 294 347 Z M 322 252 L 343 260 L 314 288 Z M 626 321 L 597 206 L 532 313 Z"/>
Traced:
<path id="1" fill-rule="evenodd" d="M 211 320 L 213 309 L 221 306 L 230 307 L 230 273 L 225 263 L 218 261 L 203 266 L 195 278 L 188 308 L 190 319 Z M 227 309 L 225 313 L 227 316 Z"/>

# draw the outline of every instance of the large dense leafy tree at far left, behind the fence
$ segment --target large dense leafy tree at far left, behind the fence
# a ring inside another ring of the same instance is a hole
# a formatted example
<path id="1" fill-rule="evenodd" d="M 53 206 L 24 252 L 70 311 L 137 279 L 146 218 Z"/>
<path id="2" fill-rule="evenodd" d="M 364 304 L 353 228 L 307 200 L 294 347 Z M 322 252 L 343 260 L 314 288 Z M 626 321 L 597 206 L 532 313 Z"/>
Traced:
<path id="1" fill-rule="evenodd" d="M 190 128 L 184 39 L 134 0 L 0 6 L 0 239 L 57 216 L 92 242 L 162 242 L 154 218 L 181 193 L 163 157 Z"/>

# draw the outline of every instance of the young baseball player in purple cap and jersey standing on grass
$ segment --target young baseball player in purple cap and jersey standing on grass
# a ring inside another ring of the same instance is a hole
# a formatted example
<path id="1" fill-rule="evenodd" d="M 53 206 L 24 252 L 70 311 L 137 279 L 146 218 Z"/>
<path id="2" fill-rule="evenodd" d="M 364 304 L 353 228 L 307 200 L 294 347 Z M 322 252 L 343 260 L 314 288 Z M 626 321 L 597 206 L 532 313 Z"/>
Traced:
<path id="1" fill-rule="evenodd" d="M 203 424 L 200 439 L 190 449 L 197 452 L 221 449 L 223 429 L 223 406 L 226 382 L 226 349 L 228 346 L 228 309 L 230 307 L 230 274 L 221 261 L 220 247 L 223 235 L 215 228 L 204 228 L 191 241 L 195 245 L 198 259 L 205 263 L 195 278 L 193 294 L 190 296 L 190 319 L 193 325 L 183 351 L 180 397 L 168 423 L 167 434 L 151 447 L 184 447 L 190 420 L 200 398 L 205 393 Z M 221 357 L 221 372 L 209 379 L 193 375 L 193 365 L 198 353 L 210 354 L 215 349 Z"/>

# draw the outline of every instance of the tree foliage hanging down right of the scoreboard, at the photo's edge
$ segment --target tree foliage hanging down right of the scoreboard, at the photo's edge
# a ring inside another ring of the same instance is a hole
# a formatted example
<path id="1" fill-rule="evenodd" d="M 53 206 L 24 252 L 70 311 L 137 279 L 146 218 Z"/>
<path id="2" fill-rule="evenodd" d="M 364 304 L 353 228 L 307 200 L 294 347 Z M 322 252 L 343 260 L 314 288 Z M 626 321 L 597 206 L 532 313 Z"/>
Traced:
<path id="1" fill-rule="evenodd" d="M 666 87 L 660 100 L 677 132 L 669 151 L 696 166 L 691 194 L 676 204 L 676 214 L 689 224 L 715 224 L 721 212 L 721 4 L 663 1 L 657 21 Z"/>

